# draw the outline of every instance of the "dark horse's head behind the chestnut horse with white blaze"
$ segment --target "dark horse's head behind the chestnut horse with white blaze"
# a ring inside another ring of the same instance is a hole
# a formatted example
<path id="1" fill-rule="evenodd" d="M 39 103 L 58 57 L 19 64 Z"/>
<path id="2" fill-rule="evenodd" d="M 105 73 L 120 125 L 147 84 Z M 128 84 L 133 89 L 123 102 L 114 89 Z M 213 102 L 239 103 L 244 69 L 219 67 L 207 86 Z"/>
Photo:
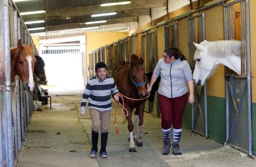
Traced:
<path id="1" fill-rule="evenodd" d="M 37 63 L 34 66 L 34 74 L 39 78 L 42 85 L 47 85 L 47 78 L 44 70 L 44 62 L 43 59 L 40 56 L 35 56 L 37 59 Z"/>

